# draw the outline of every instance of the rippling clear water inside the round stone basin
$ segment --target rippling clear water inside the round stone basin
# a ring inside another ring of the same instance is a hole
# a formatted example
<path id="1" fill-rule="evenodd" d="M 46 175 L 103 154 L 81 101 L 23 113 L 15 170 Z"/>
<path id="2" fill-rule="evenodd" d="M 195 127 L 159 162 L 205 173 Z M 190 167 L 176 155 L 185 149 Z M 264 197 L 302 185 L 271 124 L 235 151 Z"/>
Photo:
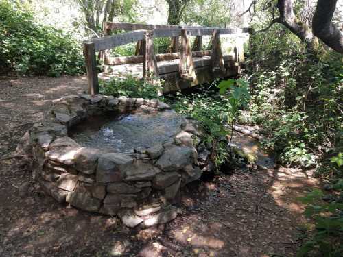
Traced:
<path id="1" fill-rule="evenodd" d="M 173 138 L 185 119 L 173 110 L 156 114 L 102 115 L 75 125 L 70 135 L 83 147 L 115 153 L 130 153 Z"/>

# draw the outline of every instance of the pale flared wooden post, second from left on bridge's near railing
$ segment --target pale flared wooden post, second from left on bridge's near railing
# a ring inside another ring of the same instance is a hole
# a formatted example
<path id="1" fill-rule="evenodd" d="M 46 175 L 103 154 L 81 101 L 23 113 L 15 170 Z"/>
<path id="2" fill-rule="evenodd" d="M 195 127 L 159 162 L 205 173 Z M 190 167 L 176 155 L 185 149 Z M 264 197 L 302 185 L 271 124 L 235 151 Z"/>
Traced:
<path id="1" fill-rule="evenodd" d="M 146 32 L 145 37 L 145 53 L 143 61 L 143 77 L 150 77 L 153 80 L 158 77 L 157 60 L 154 53 L 154 33 L 152 31 Z"/>

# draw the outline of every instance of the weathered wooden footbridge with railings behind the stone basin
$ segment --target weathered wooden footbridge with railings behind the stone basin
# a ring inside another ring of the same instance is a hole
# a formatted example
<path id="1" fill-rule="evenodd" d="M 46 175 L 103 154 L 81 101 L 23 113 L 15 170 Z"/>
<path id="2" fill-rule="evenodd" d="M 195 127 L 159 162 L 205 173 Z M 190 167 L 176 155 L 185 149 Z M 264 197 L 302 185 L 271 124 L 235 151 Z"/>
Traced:
<path id="1" fill-rule="evenodd" d="M 90 94 L 99 93 L 96 52 L 99 52 L 99 58 L 105 66 L 105 72 L 99 74 L 102 79 L 125 74 L 145 77 L 153 84 L 160 84 L 163 79 L 163 93 L 166 93 L 211 82 L 215 77 L 239 74 L 240 64 L 244 61 L 243 46 L 234 45 L 233 54 L 223 55 L 220 35 L 251 32 L 250 28 L 222 29 L 110 22 L 104 23 L 104 28 L 104 37 L 84 42 Z M 108 36 L 117 30 L 126 32 Z M 190 36 L 196 36 L 193 46 Z M 211 50 L 201 50 L 202 36 L 211 36 Z M 172 38 L 170 53 L 154 53 L 153 40 L 160 37 Z M 134 56 L 110 57 L 110 49 L 130 42 L 137 42 Z"/>

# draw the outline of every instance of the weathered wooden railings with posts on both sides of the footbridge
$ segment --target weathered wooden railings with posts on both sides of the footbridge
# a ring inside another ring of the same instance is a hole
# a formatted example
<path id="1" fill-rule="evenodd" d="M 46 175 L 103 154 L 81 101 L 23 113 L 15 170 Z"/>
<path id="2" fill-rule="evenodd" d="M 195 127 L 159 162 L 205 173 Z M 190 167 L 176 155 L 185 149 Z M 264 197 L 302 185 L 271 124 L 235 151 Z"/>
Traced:
<path id="1" fill-rule="evenodd" d="M 125 30 L 128 32 L 107 36 L 113 30 Z M 223 29 L 217 27 L 191 27 L 171 25 L 145 25 L 137 23 L 104 23 L 104 37 L 93 38 L 84 41 L 84 56 L 86 60 L 86 71 L 88 79 L 88 93 L 99 93 L 99 82 L 97 77 L 96 52 L 101 52 L 105 64 L 130 64 L 143 62 L 143 77 L 158 78 L 157 62 L 161 60 L 172 60 L 180 58 L 179 73 L 181 79 L 193 80 L 196 71 L 193 64 L 193 56 L 211 56 L 213 71 L 223 71 L 224 58 L 220 45 L 220 35 L 250 33 L 250 28 Z M 196 36 L 192 51 L 189 36 Z M 211 51 L 201 51 L 202 36 L 212 36 Z M 153 38 L 173 38 L 171 53 L 155 55 Z M 180 37 L 180 49 L 178 42 Z M 110 58 L 109 49 L 137 42 L 136 56 Z M 153 81 L 154 82 L 154 81 Z"/>

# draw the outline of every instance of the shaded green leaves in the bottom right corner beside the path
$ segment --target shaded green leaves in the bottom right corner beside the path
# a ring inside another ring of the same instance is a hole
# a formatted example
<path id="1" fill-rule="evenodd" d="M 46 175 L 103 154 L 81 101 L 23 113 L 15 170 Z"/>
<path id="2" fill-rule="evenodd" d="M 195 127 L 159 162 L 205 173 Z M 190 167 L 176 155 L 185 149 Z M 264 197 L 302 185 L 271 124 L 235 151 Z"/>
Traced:
<path id="1" fill-rule="evenodd" d="M 335 188 L 343 189 L 343 180 L 336 183 Z M 307 242 L 298 251 L 299 257 L 343 255 L 343 203 L 342 201 L 323 201 L 324 193 L 314 189 L 301 197 L 300 201 L 307 204 L 304 214 L 314 221 L 314 230 Z"/>

